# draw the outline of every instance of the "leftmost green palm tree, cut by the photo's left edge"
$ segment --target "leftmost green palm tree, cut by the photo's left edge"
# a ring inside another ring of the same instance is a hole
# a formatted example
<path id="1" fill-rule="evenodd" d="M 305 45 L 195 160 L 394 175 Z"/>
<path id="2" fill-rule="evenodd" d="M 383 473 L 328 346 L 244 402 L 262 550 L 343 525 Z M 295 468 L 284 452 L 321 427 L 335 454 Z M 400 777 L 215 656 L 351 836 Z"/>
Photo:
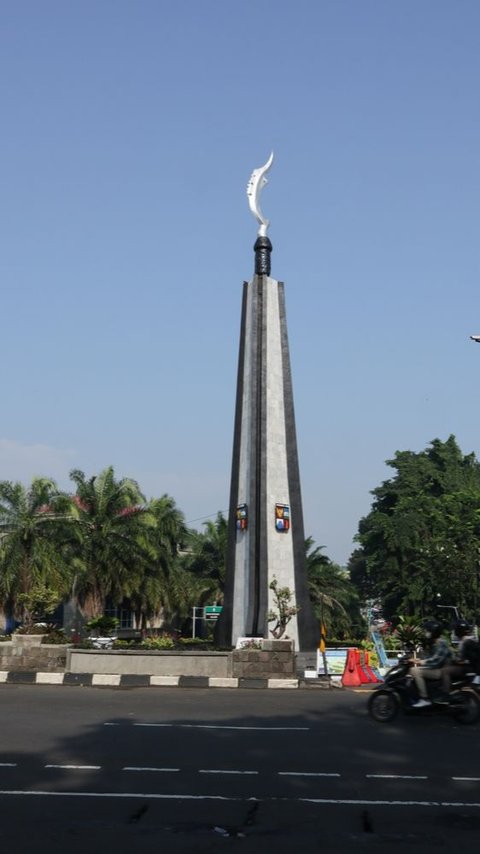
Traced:
<path id="1" fill-rule="evenodd" d="M 50 601 L 60 602 L 67 594 L 68 515 L 68 498 L 53 480 L 34 478 L 28 489 L 0 482 L 0 597 L 7 614 L 25 618 L 35 589 Z"/>

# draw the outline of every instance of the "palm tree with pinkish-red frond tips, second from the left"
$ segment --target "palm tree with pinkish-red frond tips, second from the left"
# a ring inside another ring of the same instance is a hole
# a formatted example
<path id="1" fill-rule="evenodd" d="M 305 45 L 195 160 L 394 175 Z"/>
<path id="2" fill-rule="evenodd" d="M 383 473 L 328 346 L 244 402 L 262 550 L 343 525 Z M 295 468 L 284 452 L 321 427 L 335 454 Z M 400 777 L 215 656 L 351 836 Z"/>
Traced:
<path id="1" fill-rule="evenodd" d="M 75 594 L 88 616 L 101 616 L 107 599 L 119 605 L 138 588 L 151 558 L 149 518 L 136 481 L 115 480 L 110 466 L 87 478 L 74 469 L 73 496 L 80 567 Z"/>

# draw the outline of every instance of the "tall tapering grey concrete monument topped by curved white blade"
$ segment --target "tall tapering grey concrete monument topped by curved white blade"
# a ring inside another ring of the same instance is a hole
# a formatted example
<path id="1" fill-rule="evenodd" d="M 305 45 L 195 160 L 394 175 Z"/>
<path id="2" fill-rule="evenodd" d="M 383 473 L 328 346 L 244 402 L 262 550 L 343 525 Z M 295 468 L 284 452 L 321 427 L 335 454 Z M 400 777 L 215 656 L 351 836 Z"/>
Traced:
<path id="1" fill-rule="evenodd" d="M 297 650 L 314 650 L 319 625 L 307 588 L 285 291 L 283 282 L 270 276 L 269 221 L 260 209 L 272 162 L 273 154 L 247 186 L 259 227 L 255 274 L 243 286 L 227 578 L 216 636 L 233 646 L 239 637 L 268 638 L 275 578 L 292 591 L 290 604 L 299 609 L 286 635 Z"/>

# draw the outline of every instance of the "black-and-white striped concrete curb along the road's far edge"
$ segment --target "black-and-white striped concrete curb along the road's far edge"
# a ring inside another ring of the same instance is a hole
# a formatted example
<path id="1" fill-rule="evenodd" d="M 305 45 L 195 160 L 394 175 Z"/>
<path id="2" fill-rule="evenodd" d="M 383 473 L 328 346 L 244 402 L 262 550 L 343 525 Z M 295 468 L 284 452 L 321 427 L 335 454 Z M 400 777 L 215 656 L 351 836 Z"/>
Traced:
<path id="1" fill-rule="evenodd" d="M 118 673 L 39 673 L 0 670 L 0 683 L 14 685 L 78 685 L 93 688 L 271 688 L 328 689 L 312 679 L 236 679 L 218 676 L 140 676 Z M 314 684 L 312 684 L 314 683 Z"/>

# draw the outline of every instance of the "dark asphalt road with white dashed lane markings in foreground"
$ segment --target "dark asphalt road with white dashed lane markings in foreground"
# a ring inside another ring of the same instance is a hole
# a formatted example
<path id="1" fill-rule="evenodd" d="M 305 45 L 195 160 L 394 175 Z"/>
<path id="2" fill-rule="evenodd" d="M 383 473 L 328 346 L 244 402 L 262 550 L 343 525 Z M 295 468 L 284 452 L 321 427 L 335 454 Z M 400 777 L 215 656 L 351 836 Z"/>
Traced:
<path id="1" fill-rule="evenodd" d="M 0 686 L 0 854 L 476 850 L 479 727 L 347 690 Z"/>

